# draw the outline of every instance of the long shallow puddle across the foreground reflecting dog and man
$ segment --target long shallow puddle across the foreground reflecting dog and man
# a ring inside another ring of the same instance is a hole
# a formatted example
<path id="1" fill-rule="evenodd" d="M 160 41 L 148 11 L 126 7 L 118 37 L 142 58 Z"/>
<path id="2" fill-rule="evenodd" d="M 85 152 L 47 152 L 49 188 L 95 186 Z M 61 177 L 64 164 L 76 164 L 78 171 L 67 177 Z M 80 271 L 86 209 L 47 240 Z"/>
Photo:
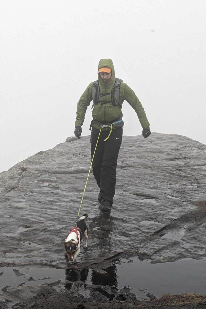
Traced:
<path id="1" fill-rule="evenodd" d="M 178 236 L 178 235 L 176 235 Z M 0 290 L 4 285 L 15 288 L 19 285 L 40 286 L 45 283 L 54 283 L 57 291 L 62 288 L 70 290 L 73 282 L 92 285 L 110 286 L 111 289 L 120 290 L 129 286 L 137 299 L 149 298 L 147 293 L 160 297 L 164 293 L 199 292 L 205 294 L 206 262 L 204 260 L 184 259 L 176 262 L 150 264 L 150 260 L 121 259 L 104 269 L 102 273 L 94 269 L 54 269 L 35 268 L 25 269 L 19 267 L 2 267 Z M 23 282 L 23 283 L 22 283 Z M 89 290 L 84 288 L 79 292 L 86 298 Z"/>

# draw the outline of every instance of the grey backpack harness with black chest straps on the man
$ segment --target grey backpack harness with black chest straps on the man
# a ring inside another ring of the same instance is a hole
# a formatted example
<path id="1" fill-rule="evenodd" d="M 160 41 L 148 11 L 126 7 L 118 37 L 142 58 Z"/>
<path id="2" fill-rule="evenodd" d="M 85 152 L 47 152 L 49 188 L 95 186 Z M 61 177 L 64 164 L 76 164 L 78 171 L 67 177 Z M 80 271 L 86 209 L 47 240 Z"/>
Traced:
<path id="1" fill-rule="evenodd" d="M 99 93 L 99 80 L 96 80 L 93 83 L 92 86 L 92 91 L 91 91 L 91 95 L 92 95 L 92 100 L 94 102 L 94 104 L 98 104 L 98 103 L 102 103 L 102 104 L 106 104 L 106 103 L 112 103 L 112 105 L 117 106 L 120 103 L 120 84 L 121 82 L 123 82 L 122 79 L 120 78 L 115 78 L 115 84 L 111 89 L 111 93 Z M 111 101 L 98 101 L 99 99 L 99 95 L 100 97 L 104 96 L 104 95 L 111 95 Z"/>

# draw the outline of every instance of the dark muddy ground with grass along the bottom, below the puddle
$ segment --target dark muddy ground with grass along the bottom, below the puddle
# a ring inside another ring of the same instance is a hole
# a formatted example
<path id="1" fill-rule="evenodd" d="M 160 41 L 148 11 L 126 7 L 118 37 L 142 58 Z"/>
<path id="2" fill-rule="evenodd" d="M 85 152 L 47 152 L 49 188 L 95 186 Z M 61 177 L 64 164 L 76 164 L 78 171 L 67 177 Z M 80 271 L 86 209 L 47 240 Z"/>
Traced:
<path id="1" fill-rule="evenodd" d="M 88 287 L 87 287 L 88 288 Z M 84 298 L 78 292 L 59 293 L 49 286 L 42 286 L 32 298 L 16 303 L 12 309 L 196 309 L 205 308 L 206 296 L 198 293 L 163 295 L 151 301 L 137 301 L 136 296 L 128 288 L 120 292 L 107 287 L 91 287 L 90 298 Z M 9 301 L 0 304 L 0 308 L 8 308 Z"/>

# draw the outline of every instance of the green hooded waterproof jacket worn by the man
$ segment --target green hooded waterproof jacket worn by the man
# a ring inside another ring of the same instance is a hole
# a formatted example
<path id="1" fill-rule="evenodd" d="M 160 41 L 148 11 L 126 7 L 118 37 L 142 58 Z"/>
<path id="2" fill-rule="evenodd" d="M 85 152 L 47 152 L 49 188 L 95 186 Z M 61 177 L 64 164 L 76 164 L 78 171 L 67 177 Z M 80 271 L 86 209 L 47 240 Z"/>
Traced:
<path id="1" fill-rule="evenodd" d="M 111 101 L 111 90 L 112 87 L 115 84 L 115 70 L 113 66 L 113 62 L 111 59 L 101 59 L 99 61 L 98 70 L 102 68 L 103 66 L 108 66 L 112 71 L 111 78 L 107 79 L 106 83 L 103 81 L 103 79 L 98 74 L 98 80 L 99 80 L 99 94 L 103 93 L 109 93 L 108 95 L 104 95 L 100 97 L 99 95 L 99 101 Z M 75 121 L 76 125 L 83 125 L 85 113 L 87 110 L 87 107 L 90 105 L 90 102 L 92 100 L 92 86 L 93 82 L 89 84 L 89 86 L 86 88 L 84 93 L 79 99 L 78 105 L 77 105 L 77 117 Z M 129 105 L 134 108 L 135 112 L 137 113 L 137 116 L 139 118 L 139 121 L 141 123 L 141 126 L 143 129 L 149 129 L 149 121 L 147 120 L 144 108 L 142 107 L 142 104 L 140 103 L 139 99 L 137 98 L 137 95 L 135 95 L 134 91 L 125 83 L 120 83 L 120 104 L 117 106 L 114 106 L 111 102 L 102 104 L 93 104 L 92 106 L 92 117 L 94 122 L 99 122 L 100 125 L 112 123 L 114 120 L 121 118 L 122 115 L 122 103 L 126 100 Z M 93 126 L 97 129 L 100 129 L 100 126 L 98 123 L 94 123 Z M 107 130 L 107 128 L 103 129 Z"/>

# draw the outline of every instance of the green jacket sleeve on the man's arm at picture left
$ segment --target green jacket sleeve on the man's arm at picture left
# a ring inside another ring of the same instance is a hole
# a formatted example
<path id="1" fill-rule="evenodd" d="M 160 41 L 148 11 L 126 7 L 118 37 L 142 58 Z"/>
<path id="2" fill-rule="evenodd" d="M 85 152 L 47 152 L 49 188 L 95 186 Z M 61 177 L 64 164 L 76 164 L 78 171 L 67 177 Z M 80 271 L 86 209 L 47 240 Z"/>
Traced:
<path id="1" fill-rule="evenodd" d="M 93 83 L 90 83 L 89 86 L 86 88 L 84 93 L 81 95 L 79 102 L 77 103 L 77 116 L 75 121 L 76 125 L 83 125 L 84 117 L 87 110 L 87 107 L 90 105 L 92 100 L 91 91 L 92 91 Z"/>

